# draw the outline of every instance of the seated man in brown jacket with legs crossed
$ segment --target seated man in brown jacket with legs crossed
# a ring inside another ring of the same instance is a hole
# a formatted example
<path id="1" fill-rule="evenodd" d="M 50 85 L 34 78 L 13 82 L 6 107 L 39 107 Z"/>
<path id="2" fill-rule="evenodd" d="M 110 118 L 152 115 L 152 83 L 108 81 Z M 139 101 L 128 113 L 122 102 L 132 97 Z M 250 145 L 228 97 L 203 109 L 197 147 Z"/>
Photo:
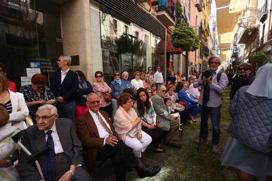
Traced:
<path id="1" fill-rule="evenodd" d="M 96 168 L 96 160 L 111 159 L 116 180 L 126 180 L 126 170 L 134 168 L 140 178 L 154 176 L 160 171 L 160 166 L 144 166 L 131 153 L 112 125 L 108 114 L 99 110 L 100 101 L 95 93 L 87 97 L 89 111 L 76 119 L 77 134 L 83 143 L 83 157 L 89 171 Z"/>

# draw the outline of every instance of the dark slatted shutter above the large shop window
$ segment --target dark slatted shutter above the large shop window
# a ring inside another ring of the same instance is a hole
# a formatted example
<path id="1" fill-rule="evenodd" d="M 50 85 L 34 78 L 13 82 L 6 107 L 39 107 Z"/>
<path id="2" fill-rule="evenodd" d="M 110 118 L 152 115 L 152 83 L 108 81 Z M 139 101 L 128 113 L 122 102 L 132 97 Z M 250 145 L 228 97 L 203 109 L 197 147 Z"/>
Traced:
<path id="1" fill-rule="evenodd" d="M 165 40 L 165 27 L 131 0 L 95 1 Z"/>

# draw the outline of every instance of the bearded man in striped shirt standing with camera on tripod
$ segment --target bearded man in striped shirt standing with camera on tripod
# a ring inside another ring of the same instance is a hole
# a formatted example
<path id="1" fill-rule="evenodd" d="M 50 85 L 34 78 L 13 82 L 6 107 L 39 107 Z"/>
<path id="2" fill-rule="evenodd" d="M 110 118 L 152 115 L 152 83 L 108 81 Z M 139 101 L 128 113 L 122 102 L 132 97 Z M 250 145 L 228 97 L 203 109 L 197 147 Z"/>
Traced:
<path id="1" fill-rule="evenodd" d="M 225 88 L 228 85 L 227 75 L 218 69 L 221 64 L 221 59 L 218 56 L 211 56 L 208 60 L 210 71 L 212 75 L 210 77 L 202 77 L 199 75 L 197 81 L 193 83 L 193 87 L 201 86 L 201 90 L 204 90 L 203 83 L 209 84 L 209 101 L 207 101 L 207 107 L 202 120 L 202 134 L 200 143 L 206 142 L 208 137 L 208 118 L 211 116 L 212 121 L 212 152 L 218 153 L 218 143 L 220 139 L 220 116 L 221 116 L 221 99 L 222 93 L 225 92 Z M 202 114 L 203 109 L 203 92 L 201 91 L 199 97 L 199 112 Z M 198 144 L 199 140 L 196 140 Z"/>

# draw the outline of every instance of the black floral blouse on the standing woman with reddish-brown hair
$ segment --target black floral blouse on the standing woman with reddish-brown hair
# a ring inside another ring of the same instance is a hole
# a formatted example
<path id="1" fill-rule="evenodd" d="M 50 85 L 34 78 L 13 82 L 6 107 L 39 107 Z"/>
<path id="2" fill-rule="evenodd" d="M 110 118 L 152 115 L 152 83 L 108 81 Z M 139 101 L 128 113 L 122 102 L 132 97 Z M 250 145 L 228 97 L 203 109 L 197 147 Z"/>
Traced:
<path id="1" fill-rule="evenodd" d="M 53 103 L 53 105 L 57 104 L 57 98 L 54 96 L 54 94 L 52 93 L 52 91 L 49 89 L 49 87 L 45 86 L 41 91 L 40 91 L 40 97 L 37 94 L 37 92 L 32 88 L 32 85 L 24 85 L 23 87 L 21 87 L 20 92 L 22 94 L 24 94 L 24 100 L 26 103 L 28 102 L 32 102 L 32 101 L 38 101 L 38 100 L 45 100 L 45 90 L 47 93 L 47 97 L 48 100 L 54 100 L 55 103 Z M 47 101 L 47 98 L 46 98 Z M 34 104 L 32 106 L 28 107 L 29 110 L 29 115 L 32 118 L 33 123 L 36 123 L 36 112 L 38 110 L 38 108 L 42 106 L 41 104 Z"/>

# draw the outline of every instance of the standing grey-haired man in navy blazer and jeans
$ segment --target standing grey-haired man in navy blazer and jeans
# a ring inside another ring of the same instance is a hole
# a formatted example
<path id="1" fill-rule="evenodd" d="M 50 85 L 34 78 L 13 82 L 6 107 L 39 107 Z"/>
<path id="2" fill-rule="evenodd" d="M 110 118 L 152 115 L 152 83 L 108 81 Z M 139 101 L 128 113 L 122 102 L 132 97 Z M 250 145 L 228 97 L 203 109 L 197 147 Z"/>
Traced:
<path id="1" fill-rule="evenodd" d="M 60 118 L 69 118 L 74 122 L 76 112 L 76 91 L 78 87 L 78 76 L 70 70 L 71 56 L 60 55 L 57 64 L 60 71 L 53 73 L 50 81 L 50 89 L 57 97 L 57 109 Z"/>

